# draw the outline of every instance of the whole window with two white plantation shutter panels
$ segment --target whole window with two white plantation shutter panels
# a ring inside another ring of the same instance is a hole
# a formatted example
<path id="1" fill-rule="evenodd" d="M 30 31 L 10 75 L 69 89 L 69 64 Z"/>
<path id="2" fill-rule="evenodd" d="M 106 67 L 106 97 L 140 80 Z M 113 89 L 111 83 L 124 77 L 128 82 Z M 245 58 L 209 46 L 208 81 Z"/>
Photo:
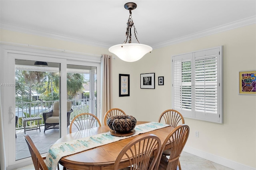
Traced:
<path id="1" fill-rule="evenodd" d="M 222 123 L 222 46 L 173 56 L 172 82 L 173 109 Z"/>

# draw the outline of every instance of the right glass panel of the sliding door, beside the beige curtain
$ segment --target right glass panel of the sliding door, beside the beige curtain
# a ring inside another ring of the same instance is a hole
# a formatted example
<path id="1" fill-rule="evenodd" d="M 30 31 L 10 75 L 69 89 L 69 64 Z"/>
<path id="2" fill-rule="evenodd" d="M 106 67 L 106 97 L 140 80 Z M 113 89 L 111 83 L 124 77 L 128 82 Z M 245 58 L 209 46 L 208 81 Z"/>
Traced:
<path id="1" fill-rule="evenodd" d="M 70 122 L 80 113 L 97 116 L 97 67 L 67 64 L 67 94 L 73 109 Z"/>

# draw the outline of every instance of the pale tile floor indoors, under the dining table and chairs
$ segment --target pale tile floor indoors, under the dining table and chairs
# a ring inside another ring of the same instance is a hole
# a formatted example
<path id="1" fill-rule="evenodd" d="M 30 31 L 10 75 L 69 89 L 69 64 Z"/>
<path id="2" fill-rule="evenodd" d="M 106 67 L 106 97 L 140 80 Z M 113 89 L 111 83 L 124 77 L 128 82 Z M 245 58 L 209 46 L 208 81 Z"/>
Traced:
<path id="1" fill-rule="evenodd" d="M 216 164 L 187 152 L 182 152 L 180 156 L 180 164 L 182 166 L 182 170 L 232 170 L 226 166 Z M 24 166 L 16 170 L 34 170 L 34 166 Z M 62 170 L 62 166 L 60 166 L 60 170 Z"/>

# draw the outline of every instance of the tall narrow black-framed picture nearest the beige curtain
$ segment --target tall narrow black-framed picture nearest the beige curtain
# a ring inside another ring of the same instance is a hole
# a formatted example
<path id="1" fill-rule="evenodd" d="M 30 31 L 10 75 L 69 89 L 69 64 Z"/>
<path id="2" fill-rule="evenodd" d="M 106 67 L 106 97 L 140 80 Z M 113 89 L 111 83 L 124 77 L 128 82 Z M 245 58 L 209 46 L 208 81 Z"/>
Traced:
<path id="1" fill-rule="evenodd" d="M 119 97 L 130 96 L 130 75 L 119 74 Z"/>

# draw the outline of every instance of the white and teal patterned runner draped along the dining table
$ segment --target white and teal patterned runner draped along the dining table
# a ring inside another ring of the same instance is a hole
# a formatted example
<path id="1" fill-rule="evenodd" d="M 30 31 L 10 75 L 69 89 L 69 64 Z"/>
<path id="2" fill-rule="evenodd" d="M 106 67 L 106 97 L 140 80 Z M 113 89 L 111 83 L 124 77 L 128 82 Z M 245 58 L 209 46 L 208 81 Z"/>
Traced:
<path id="1" fill-rule="evenodd" d="M 48 170 L 56 170 L 59 160 L 64 156 L 76 154 L 78 152 L 82 152 L 91 148 L 95 148 L 98 146 L 102 146 L 105 144 L 116 142 L 118 140 L 122 140 L 125 138 L 136 136 L 138 134 L 150 132 L 152 130 L 168 126 L 170 125 L 157 122 L 150 122 L 136 125 L 136 127 L 134 128 L 135 134 L 131 136 L 113 136 L 109 132 L 104 132 L 93 136 L 87 136 L 84 138 L 71 140 L 68 142 L 54 144 L 50 147 L 46 155 L 46 166 Z"/>

